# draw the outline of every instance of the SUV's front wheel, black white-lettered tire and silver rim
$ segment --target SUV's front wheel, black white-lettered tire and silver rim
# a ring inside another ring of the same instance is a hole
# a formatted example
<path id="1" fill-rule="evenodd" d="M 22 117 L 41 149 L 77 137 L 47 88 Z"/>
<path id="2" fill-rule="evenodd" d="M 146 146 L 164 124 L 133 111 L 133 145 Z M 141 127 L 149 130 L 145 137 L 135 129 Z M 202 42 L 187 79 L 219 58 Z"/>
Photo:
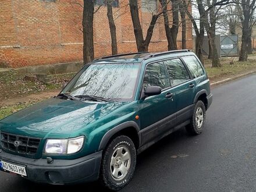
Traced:
<path id="1" fill-rule="evenodd" d="M 100 182 L 110 190 L 120 190 L 130 182 L 135 167 L 136 148 L 133 141 L 127 136 L 118 136 L 108 144 L 102 155 Z"/>

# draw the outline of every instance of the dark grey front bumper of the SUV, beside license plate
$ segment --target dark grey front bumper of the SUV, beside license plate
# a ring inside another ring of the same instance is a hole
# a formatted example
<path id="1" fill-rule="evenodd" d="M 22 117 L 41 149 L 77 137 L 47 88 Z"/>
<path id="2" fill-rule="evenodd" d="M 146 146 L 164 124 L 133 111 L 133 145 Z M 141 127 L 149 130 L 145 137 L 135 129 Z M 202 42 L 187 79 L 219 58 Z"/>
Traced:
<path id="1" fill-rule="evenodd" d="M 78 159 L 55 159 L 49 164 L 47 159 L 31 159 L 0 152 L 1 160 L 26 166 L 26 179 L 49 184 L 85 183 L 97 180 L 101 157 L 102 151 L 99 151 Z"/>

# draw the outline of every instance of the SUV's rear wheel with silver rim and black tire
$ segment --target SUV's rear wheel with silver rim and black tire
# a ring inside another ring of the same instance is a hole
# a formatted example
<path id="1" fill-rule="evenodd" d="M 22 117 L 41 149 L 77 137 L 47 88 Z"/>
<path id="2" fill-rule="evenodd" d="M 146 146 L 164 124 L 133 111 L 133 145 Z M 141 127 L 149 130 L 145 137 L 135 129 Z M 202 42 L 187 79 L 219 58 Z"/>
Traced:
<path id="1" fill-rule="evenodd" d="M 190 124 L 186 126 L 187 132 L 191 135 L 202 133 L 202 130 L 204 129 L 205 118 L 206 115 L 204 102 L 197 101 L 190 120 Z"/>

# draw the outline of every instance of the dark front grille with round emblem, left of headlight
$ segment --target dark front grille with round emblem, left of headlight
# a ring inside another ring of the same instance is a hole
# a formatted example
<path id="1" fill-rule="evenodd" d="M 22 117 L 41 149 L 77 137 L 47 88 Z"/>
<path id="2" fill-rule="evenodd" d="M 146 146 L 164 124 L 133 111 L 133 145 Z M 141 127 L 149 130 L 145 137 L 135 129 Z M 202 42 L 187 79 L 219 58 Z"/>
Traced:
<path id="1" fill-rule="evenodd" d="M 17 136 L 15 134 L 1 132 L 1 145 L 3 150 L 16 152 L 17 154 L 35 155 L 37 153 L 40 138 Z"/>

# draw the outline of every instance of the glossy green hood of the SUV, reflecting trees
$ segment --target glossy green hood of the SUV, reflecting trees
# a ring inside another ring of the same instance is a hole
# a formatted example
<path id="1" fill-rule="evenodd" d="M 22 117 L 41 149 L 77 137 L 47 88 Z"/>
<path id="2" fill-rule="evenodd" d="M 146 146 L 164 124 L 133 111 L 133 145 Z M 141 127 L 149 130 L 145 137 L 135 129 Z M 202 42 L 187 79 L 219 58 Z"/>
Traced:
<path id="1" fill-rule="evenodd" d="M 22 136 L 66 138 L 127 102 L 81 102 L 50 98 L 0 120 L 0 130 Z"/>

